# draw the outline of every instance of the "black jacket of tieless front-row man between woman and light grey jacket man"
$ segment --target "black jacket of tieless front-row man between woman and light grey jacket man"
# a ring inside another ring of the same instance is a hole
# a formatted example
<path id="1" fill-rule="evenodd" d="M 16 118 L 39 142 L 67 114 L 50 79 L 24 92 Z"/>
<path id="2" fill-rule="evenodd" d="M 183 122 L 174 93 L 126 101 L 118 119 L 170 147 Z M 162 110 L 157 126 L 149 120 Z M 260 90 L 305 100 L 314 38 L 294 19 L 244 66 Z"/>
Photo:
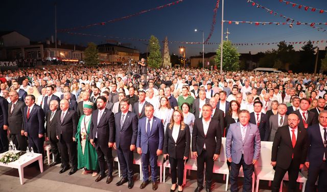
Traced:
<path id="1" fill-rule="evenodd" d="M 198 118 L 194 121 L 192 132 L 192 152 L 197 152 L 198 155 L 200 155 L 204 143 L 209 157 L 214 156 L 214 154 L 220 155 L 221 128 L 219 121 L 211 119 L 206 136 L 204 135 L 202 118 Z"/>

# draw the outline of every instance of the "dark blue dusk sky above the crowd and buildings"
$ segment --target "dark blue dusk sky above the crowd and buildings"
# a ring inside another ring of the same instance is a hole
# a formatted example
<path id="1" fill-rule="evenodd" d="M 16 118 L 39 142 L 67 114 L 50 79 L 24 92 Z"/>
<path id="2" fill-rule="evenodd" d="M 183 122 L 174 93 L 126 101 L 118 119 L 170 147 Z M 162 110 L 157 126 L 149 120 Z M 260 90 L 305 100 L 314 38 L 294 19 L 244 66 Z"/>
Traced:
<path id="1" fill-rule="evenodd" d="M 176 1 L 176 0 L 175 0 Z M 142 10 L 152 9 L 158 6 L 175 2 L 169 1 L 2 1 L 2 11 L 0 12 L 0 31 L 17 31 L 31 41 L 45 41 L 54 35 L 54 4 L 57 3 L 57 29 L 66 29 L 78 26 L 86 26 L 94 23 L 101 23 L 114 18 L 127 16 Z M 210 32 L 216 0 L 184 0 L 183 2 L 165 7 L 159 10 L 153 10 L 144 14 L 139 14 L 120 20 L 118 22 L 95 26 L 88 29 L 79 29 L 72 32 L 88 33 L 97 35 L 117 36 L 126 38 L 149 39 L 150 35 L 155 35 L 160 41 L 168 36 L 171 41 L 201 41 L 202 32 L 194 32 L 194 29 L 204 31 L 206 39 Z M 255 0 L 254 2 L 265 6 L 279 14 L 295 19 L 302 23 L 326 23 L 327 12 L 312 12 L 311 9 L 305 11 L 304 6 L 314 7 L 316 9 L 327 10 L 326 0 L 294 0 L 292 3 L 303 5 L 298 9 L 286 3 L 280 3 L 279 0 Z M 209 42 L 220 42 L 221 39 L 221 11 L 222 0 L 217 11 L 217 24 Z M 273 16 L 262 8 L 256 8 L 247 0 L 225 0 L 224 1 L 224 20 L 239 20 L 252 22 L 286 22 L 286 19 L 280 16 Z M 255 26 L 254 24 L 224 24 L 231 33 L 229 40 L 233 43 L 259 43 L 259 42 L 278 42 L 282 40 L 289 41 L 308 41 L 308 40 L 327 40 L 327 31 L 317 31 L 310 26 L 293 25 L 265 25 Z M 320 25 L 327 30 L 327 25 Z M 225 35 L 224 35 L 225 36 Z M 87 45 L 87 42 L 93 41 L 96 44 L 105 43 L 108 39 L 105 37 L 90 37 L 71 35 L 58 32 L 58 39 L 69 44 Z M 225 38 L 224 38 L 225 39 Z M 140 52 L 146 51 L 146 43 L 135 40 L 115 39 L 122 44 L 131 44 L 131 47 L 139 49 Z M 182 44 L 169 44 L 170 52 L 178 53 L 178 46 Z M 198 55 L 202 51 L 202 45 L 183 45 L 186 46 L 186 57 Z M 295 50 L 300 49 L 302 45 L 294 45 Z M 327 46 L 315 44 L 320 49 Z M 163 44 L 161 44 L 161 48 Z M 205 45 L 205 52 L 213 52 L 218 45 Z M 276 45 L 255 45 L 238 46 L 240 53 L 257 53 L 276 49 Z"/>

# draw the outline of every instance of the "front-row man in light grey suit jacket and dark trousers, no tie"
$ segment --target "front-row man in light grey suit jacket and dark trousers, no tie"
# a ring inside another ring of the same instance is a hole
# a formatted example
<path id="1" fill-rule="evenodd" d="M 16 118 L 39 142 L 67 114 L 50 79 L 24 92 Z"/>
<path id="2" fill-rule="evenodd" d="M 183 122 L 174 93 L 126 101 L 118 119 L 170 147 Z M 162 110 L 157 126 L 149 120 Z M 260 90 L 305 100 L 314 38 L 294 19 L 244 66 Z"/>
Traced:
<path id="1" fill-rule="evenodd" d="M 254 164 L 260 156 L 260 132 L 258 126 L 249 123 L 250 113 L 241 110 L 240 122 L 230 124 L 226 137 L 226 157 L 231 162 L 230 191 L 237 191 L 237 179 L 243 167 L 243 191 L 251 191 Z"/>

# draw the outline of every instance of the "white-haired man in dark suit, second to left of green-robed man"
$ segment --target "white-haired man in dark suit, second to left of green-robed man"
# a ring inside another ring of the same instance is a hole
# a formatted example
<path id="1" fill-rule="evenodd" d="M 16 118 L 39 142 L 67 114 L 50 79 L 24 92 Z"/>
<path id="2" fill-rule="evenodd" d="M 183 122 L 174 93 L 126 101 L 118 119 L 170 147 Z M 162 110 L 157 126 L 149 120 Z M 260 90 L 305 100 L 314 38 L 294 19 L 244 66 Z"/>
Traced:
<path id="1" fill-rule="evenodd" d="M 50 166 L 61 163 L 59 154 L 59 141 L 57 139 L 57 126 L 58 126 L 58 116 L 60 110 L 58 110 L 58 101 L 50 101 L 50 111 L 46 114 L 46 138 L 50 141 L 51 151 L 54 155 L 53 162 Z"/>

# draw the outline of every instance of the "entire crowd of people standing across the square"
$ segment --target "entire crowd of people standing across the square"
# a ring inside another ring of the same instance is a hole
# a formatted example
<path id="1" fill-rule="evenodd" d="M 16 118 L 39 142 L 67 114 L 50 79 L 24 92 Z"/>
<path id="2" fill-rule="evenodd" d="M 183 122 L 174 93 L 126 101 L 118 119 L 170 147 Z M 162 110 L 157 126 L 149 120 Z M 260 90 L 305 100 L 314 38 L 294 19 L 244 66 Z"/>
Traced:
<path id="1" fill-rule="evenodd" d="M 0 153 L 11 140 L 44 158 L 50 142 L 60 174 L 83 169 L 96 182 L 112 181 L 116 151 L 120 186 L 132 188 L 133 157 L 142 157 L 143 182 L 158 188 L 157 159 L 171 166 L 171 191 L 183 190 L 184 162 L 197 160 L 197 188 L 211 191 L 214 161 L 222 137 L 230 168 L 230 189 L 237 191 L 243 167 L 244 191 L 252 187 L 261 141 L 273 142 L 272 191 L 286 172 L 295 191 L 299 169 L 308 169 L 306 191 L 327 188 L 327 77 L 323 74 L 224 72 L 209 69 L 147 69 L 127 66 L 60 66 L 0 73 Z M 191 152 L 191 153 L 190 153 Z M 205 166 L 204 166 L 205 165 Z M 108 169 L 108 176 L 106 175 Z M 177 182 L 178 181 L 178 182 Z"/>

